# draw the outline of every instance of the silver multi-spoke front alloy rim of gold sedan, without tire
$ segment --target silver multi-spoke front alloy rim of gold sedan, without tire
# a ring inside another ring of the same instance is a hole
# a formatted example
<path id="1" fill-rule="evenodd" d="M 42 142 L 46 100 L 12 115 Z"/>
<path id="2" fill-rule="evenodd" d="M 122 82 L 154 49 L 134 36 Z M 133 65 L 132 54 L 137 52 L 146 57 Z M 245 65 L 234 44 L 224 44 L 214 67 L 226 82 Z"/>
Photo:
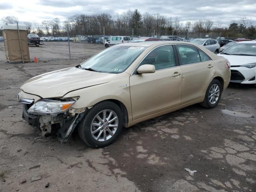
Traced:
<path id="1" fill-rule="evenodd" d="M 118 128 L 118 116 L 112 110 L 99 112 L 92 120 L 90 132 L 96 141 L 112 138 Z"/>

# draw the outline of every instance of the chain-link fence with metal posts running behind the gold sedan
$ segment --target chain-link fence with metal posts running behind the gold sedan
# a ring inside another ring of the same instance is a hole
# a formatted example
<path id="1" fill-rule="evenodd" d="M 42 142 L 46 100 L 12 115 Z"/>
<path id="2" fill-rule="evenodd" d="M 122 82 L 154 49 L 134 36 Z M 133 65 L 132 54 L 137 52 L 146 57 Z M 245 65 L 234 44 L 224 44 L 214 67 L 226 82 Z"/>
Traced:
<path id="1" fill-rule="evenodd" d="M 4 27 L 6 25 L 0 22 L 0 61 L 6 61 L 10 54 L 6 49 L 7 41 L 4 38 Z M 12 25 L 26 30 L 27 38 L 21 43 L 9 41 L 14 49 L 14 55 L 21 54 L 21 45 L 24 41 L 28 44 L 30 61 L 36 57 L 39 61 L 49 60 L 69 60 L 85 59 L 97 52 L 103 50 L 105 42 L 110 36 L 129 36 L 130 39 L 136 37 L 156 37 L 172 36 L 173 38 L 218 38 L 221 33 L 199 33 L 199 32 L 178 32 L 170 30 L 152 30 L 152 29 L 134 29 L 123 28 L 122 26 L 95 26 L 88 24 L 76 24 L 66 22 L 62 25 L 50 22 L 32 23 L 17 22 Z M 18 34 L 18 30 L 13 29 L 13 34 Z M 16 35 L 15 35 L 16 36 Z M 236 37 L 225 37 L 236 38 Z M 15 38 L 14 38 L 15 39 Z M 40 42 L 39 42 L 40 41 Z M 19 42 L 16 39 L 16 42 Z M 24 52 L 22 48 L 22 52 Z"/>

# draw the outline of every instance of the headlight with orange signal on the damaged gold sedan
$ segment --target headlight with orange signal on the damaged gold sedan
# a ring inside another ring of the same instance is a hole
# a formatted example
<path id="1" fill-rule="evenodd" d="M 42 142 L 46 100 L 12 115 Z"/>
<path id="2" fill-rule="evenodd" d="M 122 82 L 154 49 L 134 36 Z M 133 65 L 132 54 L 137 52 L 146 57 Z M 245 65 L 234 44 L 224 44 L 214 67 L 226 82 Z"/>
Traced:
<path id="1" fill-rule="evenodd" d="M 68 110 L 76 101 L 56 101 L 42 99 L 28 109 L 28 113 L 35 115 L 55 115 Z"/>

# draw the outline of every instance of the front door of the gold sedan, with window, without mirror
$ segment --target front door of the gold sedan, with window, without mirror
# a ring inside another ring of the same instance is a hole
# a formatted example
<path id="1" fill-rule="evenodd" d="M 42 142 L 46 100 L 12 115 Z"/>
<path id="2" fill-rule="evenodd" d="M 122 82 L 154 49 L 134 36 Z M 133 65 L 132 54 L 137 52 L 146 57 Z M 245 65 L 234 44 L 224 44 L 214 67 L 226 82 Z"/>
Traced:
<path id="1" fill-rule="evenodd" d="M 172 45 L 155 48 L 143 64 L 154 65 L 156 72 L 130 76 L 133 120 L 178 106 L 181 101 L 181 68 Z"/>

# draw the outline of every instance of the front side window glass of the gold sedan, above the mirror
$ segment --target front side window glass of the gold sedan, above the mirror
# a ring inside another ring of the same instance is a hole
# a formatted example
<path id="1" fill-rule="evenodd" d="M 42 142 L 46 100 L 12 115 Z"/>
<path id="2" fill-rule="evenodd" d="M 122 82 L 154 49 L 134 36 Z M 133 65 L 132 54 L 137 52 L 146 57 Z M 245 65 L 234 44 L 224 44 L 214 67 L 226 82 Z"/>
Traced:
<path id="1" fill-rule="evenodd" d="M 144 58 L 141 64 L 152 64 L 156 70 L 176 66 L 173 47 L 165 45 L 155 48 Z"/>

